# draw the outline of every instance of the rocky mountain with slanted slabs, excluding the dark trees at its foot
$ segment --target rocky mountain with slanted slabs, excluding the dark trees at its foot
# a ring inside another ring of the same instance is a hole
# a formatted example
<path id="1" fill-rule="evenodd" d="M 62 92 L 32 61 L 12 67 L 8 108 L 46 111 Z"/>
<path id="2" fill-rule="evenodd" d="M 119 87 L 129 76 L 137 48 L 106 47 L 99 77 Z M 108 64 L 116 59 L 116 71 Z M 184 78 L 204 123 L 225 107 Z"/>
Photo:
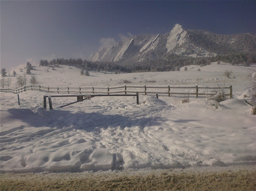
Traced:
<path id="1" fill-rule="evenodd" d="M 216 57 L 217 55 L 256 52 L 256 35 L 250 33 L 218 35 L 204 30 L 185 30 L 176 24 L 171 32 L 157 35 L 135 35 L 128 41 L 101 48 L 90 61 L 136 63 L 180 55 L 182 57 Z"/>

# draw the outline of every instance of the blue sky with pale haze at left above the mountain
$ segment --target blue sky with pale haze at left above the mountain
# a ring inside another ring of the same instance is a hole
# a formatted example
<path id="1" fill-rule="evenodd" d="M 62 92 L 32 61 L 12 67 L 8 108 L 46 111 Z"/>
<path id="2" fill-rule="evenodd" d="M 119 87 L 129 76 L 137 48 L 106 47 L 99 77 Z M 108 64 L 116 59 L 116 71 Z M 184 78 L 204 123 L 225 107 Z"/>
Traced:
<path id="1" fill-rule="evenodd" d="M 1 1 L 1 68 L 87 59 L 129 35 L 184 29 L 256 33 L 256 1 Z"/>

